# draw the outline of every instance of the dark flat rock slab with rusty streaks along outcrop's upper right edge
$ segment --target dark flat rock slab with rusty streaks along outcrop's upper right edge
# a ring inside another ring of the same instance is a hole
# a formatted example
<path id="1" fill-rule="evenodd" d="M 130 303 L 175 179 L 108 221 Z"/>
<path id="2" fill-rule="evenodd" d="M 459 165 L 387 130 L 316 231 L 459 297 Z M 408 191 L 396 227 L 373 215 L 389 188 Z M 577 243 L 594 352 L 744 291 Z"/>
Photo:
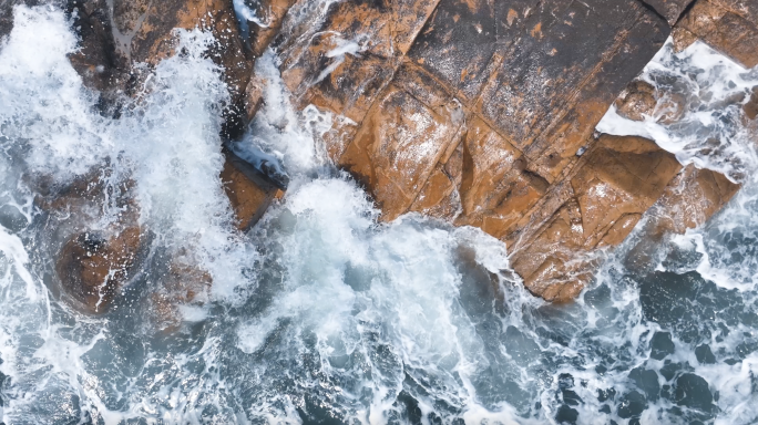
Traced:
<path id="1" fill-rule="evenodd" d="M 530 170 L 553 182 L 669 29 L 636 1 L 514 10 L 526 18 L 502 35 L 513 41 L 474 111 L 522 149 Z"/>

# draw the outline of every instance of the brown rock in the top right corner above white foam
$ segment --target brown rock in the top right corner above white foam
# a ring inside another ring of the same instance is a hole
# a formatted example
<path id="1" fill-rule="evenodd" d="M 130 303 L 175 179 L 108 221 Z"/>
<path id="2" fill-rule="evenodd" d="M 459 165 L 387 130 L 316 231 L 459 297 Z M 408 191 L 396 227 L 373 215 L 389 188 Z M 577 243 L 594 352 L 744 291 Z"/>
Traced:
<path id="1" fill-rule="evenodd" d="M 698 0 L 679 25 L 747 68 L 758 64 L 758 6 L 752 0 Z"/>

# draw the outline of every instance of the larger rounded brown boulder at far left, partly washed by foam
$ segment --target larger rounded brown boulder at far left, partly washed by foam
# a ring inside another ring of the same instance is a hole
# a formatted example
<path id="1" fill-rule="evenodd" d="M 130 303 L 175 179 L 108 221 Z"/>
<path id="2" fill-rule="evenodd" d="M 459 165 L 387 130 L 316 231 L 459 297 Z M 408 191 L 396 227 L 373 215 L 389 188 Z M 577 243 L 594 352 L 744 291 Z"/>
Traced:
<path id="1" fill-rule="evenodd" d="M 37 201 L 51 212 L 50 245 L 62 243 L 55 272 L 63 298 L 92 314 L 107 311 L 131 278 L 143 239 L 139 207 L 131 194 L 133 183 L 107 186 L 109 178 L 107 170 L 98 170 Z M 119 210 L 110 218 L 103 216 L 102 206 L 107 201 L 115 203 Z"/>

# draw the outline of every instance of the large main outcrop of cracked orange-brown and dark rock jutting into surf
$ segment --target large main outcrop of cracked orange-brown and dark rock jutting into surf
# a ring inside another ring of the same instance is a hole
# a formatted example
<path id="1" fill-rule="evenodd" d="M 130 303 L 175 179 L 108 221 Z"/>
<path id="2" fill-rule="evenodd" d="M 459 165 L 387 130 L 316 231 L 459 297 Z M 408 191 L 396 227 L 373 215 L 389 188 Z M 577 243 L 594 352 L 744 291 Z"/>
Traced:
<path id="1" fill-rule="evenodd" d="M 342 117 L 322 136 L 332 160 L 383 220 L 506 241 L 536 294 L 575 296 L 580 258 L 621 242 L 679 170 L 649 142 L 592 136 L 669 34 L 636 0 L 304 3 L 275 45 L 295 104 Z"/>

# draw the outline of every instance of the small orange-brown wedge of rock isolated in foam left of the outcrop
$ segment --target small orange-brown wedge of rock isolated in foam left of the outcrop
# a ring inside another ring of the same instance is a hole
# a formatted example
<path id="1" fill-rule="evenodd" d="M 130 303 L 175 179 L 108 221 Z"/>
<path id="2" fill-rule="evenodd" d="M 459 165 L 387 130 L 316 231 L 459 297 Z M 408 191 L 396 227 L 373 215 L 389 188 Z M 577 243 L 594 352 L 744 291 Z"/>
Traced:
<path id="1" fill-rule="evenodd" d="M 237 227 L 244 231 L 255 225 L 272 201 L 284 193 L 244 159 L 228 151 L 225 156 L 221 179 L 237 217 Z"/>

